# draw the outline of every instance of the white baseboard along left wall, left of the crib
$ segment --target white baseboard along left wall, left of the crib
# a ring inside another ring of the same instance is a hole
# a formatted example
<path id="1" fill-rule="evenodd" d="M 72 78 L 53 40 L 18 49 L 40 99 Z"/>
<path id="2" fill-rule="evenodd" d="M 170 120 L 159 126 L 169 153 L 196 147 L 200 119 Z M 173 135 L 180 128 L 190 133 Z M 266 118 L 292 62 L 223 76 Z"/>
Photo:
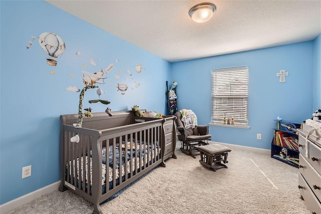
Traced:
<path id="1" fill-rule="evenodd" d="M 7 213 L 21 205 L 31 202 L 34 199 L 41 197 L 41 195 L 48 194 L 59 188 L 60 181 L 52 183 L 48 186 L 37 189 L 36 191 L 25 194 L 21 197 L 8 201 L 0 205 L 0 213 Z"/>

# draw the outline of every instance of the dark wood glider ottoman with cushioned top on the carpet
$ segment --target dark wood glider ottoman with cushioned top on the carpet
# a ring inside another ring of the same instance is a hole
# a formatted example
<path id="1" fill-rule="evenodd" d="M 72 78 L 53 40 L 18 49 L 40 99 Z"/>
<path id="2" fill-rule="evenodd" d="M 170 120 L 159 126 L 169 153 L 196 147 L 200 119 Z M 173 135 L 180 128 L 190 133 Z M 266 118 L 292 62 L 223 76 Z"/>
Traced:
<path id="1" fill-rule="evenodd" d="M 220 144 L 208 144 L 198 147 L 201 154 L 200 163 L 204 166 L 216 171 L 216 169 L 227 166 L 224 163 L 228 163 L 227 155 L 231 151 L 230 148 Z"/>

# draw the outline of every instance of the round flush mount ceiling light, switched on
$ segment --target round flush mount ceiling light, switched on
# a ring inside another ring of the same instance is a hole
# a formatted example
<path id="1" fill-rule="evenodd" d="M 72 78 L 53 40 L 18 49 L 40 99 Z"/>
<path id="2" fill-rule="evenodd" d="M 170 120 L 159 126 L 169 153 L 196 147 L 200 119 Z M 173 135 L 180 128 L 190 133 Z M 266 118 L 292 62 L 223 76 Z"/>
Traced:
<path id="1" fill-rule="evenodd" d="M 200 3 L 191 8 L 189 15 L 194 22 L 202 23 L 209 21 L 215 14 L 216 7 L 212 3 Z"/>

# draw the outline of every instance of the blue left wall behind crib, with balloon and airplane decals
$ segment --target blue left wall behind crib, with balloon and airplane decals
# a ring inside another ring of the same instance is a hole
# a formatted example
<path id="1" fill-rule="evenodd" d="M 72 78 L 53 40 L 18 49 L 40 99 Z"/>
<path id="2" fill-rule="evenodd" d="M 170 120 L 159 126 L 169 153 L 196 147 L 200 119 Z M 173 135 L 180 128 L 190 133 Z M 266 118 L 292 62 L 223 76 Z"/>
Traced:
<path id="1" fill-rule="evenodd" d="M 1 1 L 0 4 L 0 204 L 3 204 L 60 180 L 59 116 L 78 113 L 79 92 L 66 88 L 84 87 L 82 70 L 94 73 L 114 63 L 115 68 L 108 75 L 105 73 L 106 83 L 97 84 L 107 92 L 101 99 L 109 100 L 108 107 L 113 111 L 130 110 L 138 105 L 164 114 L 171 64 L 46 2 Z M 38 39 L 26 50 L 32 36 L 39 37 L 44 32 L 57 34 L 66 44 L 56 67 L 47 65 L 47 55 Z M 76 55 L 77 51 L 80 56 Z M 90 64 L 90 59 L 96 66 Z M 145 70 L 137 73 L 137 63 Z M 119 79 L 115 79 L 115 74 Z M 116 91 L 117 83 L 128 85 L 125 95 Z M 138 88 L 136 83 L 140 83 Z M 88 100 L 92 99 L 98 99 L 96 89 L 86 92 L 84 108 L 89 107 Z M 90 107 L 93 113 L 107 108 L 101 103 Z M 22 167 L 28 165 L 32 165 L 32 176 L 22 179 Z"/>

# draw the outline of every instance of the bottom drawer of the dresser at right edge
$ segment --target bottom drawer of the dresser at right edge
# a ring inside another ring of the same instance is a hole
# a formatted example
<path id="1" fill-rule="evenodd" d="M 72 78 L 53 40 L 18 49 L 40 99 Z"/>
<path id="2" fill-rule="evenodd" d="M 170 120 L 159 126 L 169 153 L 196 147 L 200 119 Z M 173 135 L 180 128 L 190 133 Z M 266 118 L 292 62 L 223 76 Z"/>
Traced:
<path id="1" fill-rule="evenodd" d="M 315 197 L 311 189 L 308 187 L 302 175 L 299 173 L 299 191 L 302 195 L 307 207 L 313 213 L 321 213 L 321 204 L 318 199 Z"/>

